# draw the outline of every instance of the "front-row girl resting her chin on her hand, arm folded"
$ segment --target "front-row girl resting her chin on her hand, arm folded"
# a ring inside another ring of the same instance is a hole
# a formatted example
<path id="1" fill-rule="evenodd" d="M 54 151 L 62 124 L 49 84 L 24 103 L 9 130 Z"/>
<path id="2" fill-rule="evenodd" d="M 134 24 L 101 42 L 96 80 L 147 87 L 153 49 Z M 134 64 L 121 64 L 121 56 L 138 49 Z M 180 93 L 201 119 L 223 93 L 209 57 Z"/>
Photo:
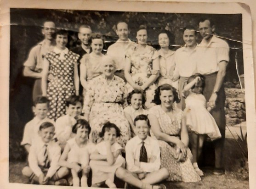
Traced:
<path id="1" fill-rule="evenodd" d="M 109 188 L 116 188 L 115 171 L 118 167 L 125 167 L 125 159 L 120 155 L 122 147 L 115 141 L 120 136 L 120 130 L 114 123 L 107 122 L 99 135 L 104 141 L 96 145 L 95 152 L 90 156 L 91 186 L 99 187 L 105 182 Z"/>

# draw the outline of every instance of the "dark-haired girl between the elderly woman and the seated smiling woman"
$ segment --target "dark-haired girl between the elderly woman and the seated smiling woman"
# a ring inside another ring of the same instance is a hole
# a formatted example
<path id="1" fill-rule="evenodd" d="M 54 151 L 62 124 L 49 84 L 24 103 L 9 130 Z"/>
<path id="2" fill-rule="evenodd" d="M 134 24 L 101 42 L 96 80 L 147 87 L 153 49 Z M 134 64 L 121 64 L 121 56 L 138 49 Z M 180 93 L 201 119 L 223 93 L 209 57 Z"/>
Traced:
<path id="1" fill-rule="evenodd" d="M 134 125 L 135 117 L 141 114 L 148 115 L 148 111 L 142 108 L 146 102 L 146 99 L 143 91 L 135 89 L 128 94 L 126 100 L 129 106 L 124 109 L 125 117 L 131 127 L 131 137 L 134 137 L 136 136 Z"/>

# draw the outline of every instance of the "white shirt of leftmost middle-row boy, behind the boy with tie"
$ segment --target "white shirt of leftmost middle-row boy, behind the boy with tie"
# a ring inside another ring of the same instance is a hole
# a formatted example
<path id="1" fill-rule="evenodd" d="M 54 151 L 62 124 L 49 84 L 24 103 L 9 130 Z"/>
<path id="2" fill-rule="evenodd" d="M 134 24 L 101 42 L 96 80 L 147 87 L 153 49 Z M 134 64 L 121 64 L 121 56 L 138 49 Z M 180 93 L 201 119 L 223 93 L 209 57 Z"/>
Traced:
<path id="1" fill-rule="evenodd" d="M 44 119 L 34 117 L 25 125 L 21 145 L 33 145 L 34 143 L 37 143 L 38 139 L 40 139 L 38 134 L 39 127 L 43 122 L 51 122 L 53 125 L 55 125 L 55 122 L 48 117 L 45 117 Z"/>

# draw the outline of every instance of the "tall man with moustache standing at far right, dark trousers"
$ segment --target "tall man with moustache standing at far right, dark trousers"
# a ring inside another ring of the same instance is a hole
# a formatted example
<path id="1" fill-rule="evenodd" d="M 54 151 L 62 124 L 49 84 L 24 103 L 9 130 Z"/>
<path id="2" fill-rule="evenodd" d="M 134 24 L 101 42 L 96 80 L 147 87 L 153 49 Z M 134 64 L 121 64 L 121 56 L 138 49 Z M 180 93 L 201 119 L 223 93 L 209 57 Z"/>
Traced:
<path id="1" fill-rule="evenodd" d="M 214 35 L 215 26 L 208 18 L 202 18 L 199 21 L 199 32 L 203 40 L 198 45 L 199 59 L 197 70 L 205 76 L 205 88 L 203 94 L 210 111 L 214 117 L 218 128 L 222 134 L 221 139 L 214 142 L 215 146 L 215 170 L 214 174 L 221 175 L 225 173 L 223 164 L 223 148 L 225 142 L 225 91 L 223 87 L 226 68 L 229 61 L 228 43 Z"/>

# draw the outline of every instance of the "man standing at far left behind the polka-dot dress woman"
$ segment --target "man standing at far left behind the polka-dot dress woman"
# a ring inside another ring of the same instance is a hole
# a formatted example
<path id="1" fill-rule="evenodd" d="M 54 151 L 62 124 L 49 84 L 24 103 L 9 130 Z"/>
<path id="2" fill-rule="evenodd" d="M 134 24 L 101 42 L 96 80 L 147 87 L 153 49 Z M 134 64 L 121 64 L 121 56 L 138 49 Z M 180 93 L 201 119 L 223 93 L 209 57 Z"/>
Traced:
<path id="1" fill-rule="evenodd" d="M 41 78 L 43 69 L 44 55 L 53 50 L 55 46 L 55 40 L 52 38 L 52 34 L 55 32 L 55 23 L 52 21 L 44 22 L 42 33 L 45 37 L 43 41 L 35 45 L 28 54 L 28 59 L 24 62 L 23 75 L 25 77 L 34 78 L 33 87 L 33 101 L 40 95 L 41 90 Z"/>

